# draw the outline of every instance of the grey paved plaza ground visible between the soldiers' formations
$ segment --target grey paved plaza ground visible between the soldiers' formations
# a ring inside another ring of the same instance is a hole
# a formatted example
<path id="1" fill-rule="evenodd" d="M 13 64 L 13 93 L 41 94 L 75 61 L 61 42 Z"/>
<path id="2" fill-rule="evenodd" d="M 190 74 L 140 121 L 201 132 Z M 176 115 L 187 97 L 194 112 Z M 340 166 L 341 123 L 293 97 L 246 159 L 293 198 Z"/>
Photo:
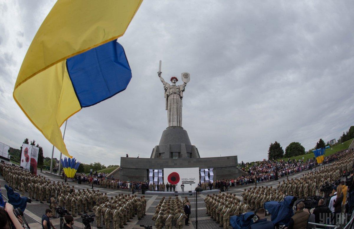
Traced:
<path id="1" fill-rule="evenodd" d="M 319 168 L 319 167 L 318 167 Z M 318 169 L 317 168 L 317 169 Z M 302 171 L 302 172 L 298 172 L 296 174 L 293 174 L 291 176 L 289 176 L 289 178 L 299 178 L 302 177 L 302 175 L 306 172 L 308 172 L 309 170 L 306 171 Z M 38 173 L 38 175 L 43 175 L 46 178 L 50 178 L 51 181 L 59 181 L 61 182 L 62 180 L 54 175 L 48 175 L 46 173 Z M 278 184 L 278 182 L 282 182 L 283 179 L 286 179 L 286 177 L 282 177 L 280 178 L 278 181 L 269 181 L 269 182 L 263 182 L 260 183 L 259 185 L 262 186 L 273 186 L 276 187 L 276 185 Z M 7 182 L 3 179 L 3 177 L 0 177 L 0 183 L 1 186 L 4 187 L 5 184 L 7 184 Z M 69 182 L 70 187 L 72 185 L 74 185 L 75 189 L 83 189 L 83 188 L 90 188 L 91 186 L 89 184 L 77 184 L 77 183 L 73 183 L 73 182 Z M 235 193 L 236 197 L 241 198 L 241 193 L 244 191 L 244 188 L 248 188 L 248 187 L 253 187 L 254 184 L 252 185 L 248 185 L 248 186 L 239 186 L 237 188 L 232 188 L 229 190 L 230 193 Z M 123 190 L 114 190 L 114 189 L 106 189 L 106 188 L 97 188 L 95 187 L 95 189 L 99 189 L 100 192 L 102 193 L 107 193 L 107 195 L 110 196 L 115 196 L 118 195 L 119 193 L 124 193 L 124 194 L 129 194 L 131 192 L 127 192 L 127 191 L 123 191 Z M 5 190 L 5 191 L 4 191 Z M 218 190 L 215 192 L 218 193 Z M 6 194 L 6 189 L 3 188 L 2 189 L 2 194 L 5 198 L 5 200 L 7 200 L 7 194 Z M 28 195 L 28 193 L 26 192 L 25 195 Z M 137 194 L 137 196 L 141 196 L 141 194 Z M 140 225 L 154 225 L 154 221 L 152 221 L 152 216 L 155 212 L 155 206 L 159 203 L 159 201 L 161 200 L 161 198 L 163 197 L 163 195 L 145 195 L 145 199 L 147 200 L 147 206 L 146 206 L 146 216 L 144 216 L 141 220 L 138 220 L 137 217 L 135 216 L 133 219 L 131 219 L 131 222 L 127 222 L 128 225 L 124 226 L 124 228 L 142 228 L 140 227 Z M 178 195 L 178 198 L 182 199 L 184 198 L 185 195 Z M 184 228 L 195 228 L 195 221 L 196 221 L 196 215 L 195 215 L 195 196 L 194 195 L 187 195 L 190 203 L 191 203 L 191 215 L 190 215 L 190 221 L 191 224 L 189 226 L 184 226 Z M 198 227 L 199 228 L 218 228 L 219 224 L 216 224 L 215 221 L 213 221 L 209 216 L 206 215 L 206 207 L 204 204 L 204 198 L 206 197 L 206 194 L 204 195 L 203 192 L 201 192 L 201 194 L 198 195 L 197 198 L 197 206 L 198 206 Z M 28 203 L 27 204 L 27 208 L 24 212 L 25 218 L 27 220 L 27 222 L 29 223 L 30 228 L 36 229 L 36 228 L 42 228 L 41 227 L 41 217 L 44 214 L 45 210 L 49 208 L 48 204 L 40 204 L 40 202 L 38 201 L 32 201 L 32 203 Z M 82 228 L 82 223 L 81 223 L 81 217 L 75 217 L 75 225 L 74 228 Z M 59 228 L 59 218 L 56 219 L 52 219 L 52 223 L 53 225 L 55 225 L 55 227 L 58 229 Z M 93 222 L 93 228 L 96 229 L 96 222 Z M 112 223 L 111 223 L 111 227 L 112 228 Z M 153 227 L 155 228 L 155 227 Z"/>

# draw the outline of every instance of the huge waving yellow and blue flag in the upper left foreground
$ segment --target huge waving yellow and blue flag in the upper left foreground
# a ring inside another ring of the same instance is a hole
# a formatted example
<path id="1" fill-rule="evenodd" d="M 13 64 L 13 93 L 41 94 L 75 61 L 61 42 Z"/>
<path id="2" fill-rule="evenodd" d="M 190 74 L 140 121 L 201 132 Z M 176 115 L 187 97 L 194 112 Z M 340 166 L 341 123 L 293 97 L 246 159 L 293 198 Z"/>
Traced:
<path id="1" fill-rule="evenodd" d="M 48 141 L 70 158 L 61 125 L 130 82 L 131 69 L 116 40 L 141 2 L 59 0 L 28 48 L 13 98 Z"/>

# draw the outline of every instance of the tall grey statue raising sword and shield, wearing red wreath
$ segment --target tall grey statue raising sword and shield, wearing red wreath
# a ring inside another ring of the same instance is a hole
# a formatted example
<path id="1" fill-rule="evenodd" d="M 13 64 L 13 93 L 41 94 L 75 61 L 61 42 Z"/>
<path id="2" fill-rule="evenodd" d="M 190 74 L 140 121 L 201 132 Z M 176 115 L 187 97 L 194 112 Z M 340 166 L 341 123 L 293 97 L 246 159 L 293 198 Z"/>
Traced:
<path id="1" fill-rule="evenodd" d="M 187 83 L 190 80 L 190 74 L 183 72 L 181 74 L 183 84 L 176 85 L 178 81 L 176 76 L 171 77 L 172 84 L 167 83 L 164 78 L 161 77 L 161 60 L 159 64 L 158 76 L 164 84 L 165 89 L 165 109 L 167 110 L 167 120 L 169 127 L 182 127 L 182 99 L 183 92 Z"/>

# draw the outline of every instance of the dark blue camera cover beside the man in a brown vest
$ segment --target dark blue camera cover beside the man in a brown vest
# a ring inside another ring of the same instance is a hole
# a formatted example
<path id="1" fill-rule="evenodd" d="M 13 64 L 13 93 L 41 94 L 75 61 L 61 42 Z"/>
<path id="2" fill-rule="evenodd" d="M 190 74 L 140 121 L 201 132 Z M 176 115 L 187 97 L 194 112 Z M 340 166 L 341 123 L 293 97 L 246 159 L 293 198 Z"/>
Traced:
<path id="1" fill-rule="evenodd" d="M 295 199 L 294 199 L 295 198 Z M 278 201 L 268 201 L 264 203 L 264 209 L 272 215 L 270 220 L 276 224 L 287 224 L 290 218 L 294 215 L 292 210 L 292 205 L 297 198 L 294 196 L 285 196 L 284 200 Z"/>

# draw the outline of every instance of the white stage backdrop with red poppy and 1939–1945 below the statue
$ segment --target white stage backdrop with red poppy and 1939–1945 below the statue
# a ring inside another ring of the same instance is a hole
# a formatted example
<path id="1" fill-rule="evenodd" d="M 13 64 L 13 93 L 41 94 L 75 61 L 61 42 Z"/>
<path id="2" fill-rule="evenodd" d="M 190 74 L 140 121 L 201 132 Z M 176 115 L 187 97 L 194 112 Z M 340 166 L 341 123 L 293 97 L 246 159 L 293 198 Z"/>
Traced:
<path id="1" fill-rule="evenodd" d="M 176 184 L 176 191 L 181 192 L 181 184 L 184 184 L 184 192 L 192 191 L 199 183 L 199 168 L 165 168 L 165 184 Z"/>

